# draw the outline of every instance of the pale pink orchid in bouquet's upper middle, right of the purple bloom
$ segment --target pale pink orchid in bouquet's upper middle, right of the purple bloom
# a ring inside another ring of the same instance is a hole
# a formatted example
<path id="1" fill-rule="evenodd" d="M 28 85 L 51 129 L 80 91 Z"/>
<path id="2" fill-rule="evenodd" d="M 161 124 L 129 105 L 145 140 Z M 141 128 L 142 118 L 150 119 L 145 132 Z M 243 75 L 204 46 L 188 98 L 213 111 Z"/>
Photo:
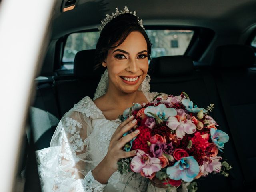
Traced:
<path id="1" fill-rule="evenodd" d="M 178 119 L 176 118 L 178 117 Z M 196 132 L 196 125 L 185 116 L 171 116 L 168 118 L 166 125 L 172 129 L 176 130 L 177 139 L 181 140 L 185 134 L 192 134 Z"/>

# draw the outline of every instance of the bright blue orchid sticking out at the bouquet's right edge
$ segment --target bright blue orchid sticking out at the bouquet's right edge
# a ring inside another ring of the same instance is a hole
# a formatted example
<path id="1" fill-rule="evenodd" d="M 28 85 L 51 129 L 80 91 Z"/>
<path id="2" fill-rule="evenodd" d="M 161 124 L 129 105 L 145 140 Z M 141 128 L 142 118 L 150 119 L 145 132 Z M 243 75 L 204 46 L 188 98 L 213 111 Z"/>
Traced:
<path id="1" fill-rule="evenodd" d="M 228 142 L 229 136 L 225 132 L 211 128 L 210 129 L 211 133 L 211 139 L 212 142 L 218 147 L 218 149 L 223 152 L 221 149 L 224 147 L 224 143 Z"/>

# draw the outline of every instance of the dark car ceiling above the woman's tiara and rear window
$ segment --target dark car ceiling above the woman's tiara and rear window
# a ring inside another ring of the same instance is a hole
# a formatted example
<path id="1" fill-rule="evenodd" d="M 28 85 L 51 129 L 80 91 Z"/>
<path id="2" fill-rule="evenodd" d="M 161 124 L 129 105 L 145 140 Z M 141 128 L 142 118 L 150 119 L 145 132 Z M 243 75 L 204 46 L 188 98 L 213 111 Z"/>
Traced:
<path id="1" fill-rule="evenodd" d="M 144 25 L 200 26 L 217 34 L 242 34 L 256 26 L 256 0 L 79 0 L 74 10 L 62 13 L 62 0 L 54 7 L 52 37 L 98 28 L 115 8 L 136 10 Z"/>

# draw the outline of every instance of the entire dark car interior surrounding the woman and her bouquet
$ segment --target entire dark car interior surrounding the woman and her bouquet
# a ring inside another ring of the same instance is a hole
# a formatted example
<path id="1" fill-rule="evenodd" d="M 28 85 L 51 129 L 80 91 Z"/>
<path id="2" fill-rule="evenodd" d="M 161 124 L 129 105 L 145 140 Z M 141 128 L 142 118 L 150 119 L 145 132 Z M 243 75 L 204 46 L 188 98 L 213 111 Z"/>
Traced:
<path id="1" fill-rule="evenodd" d="M 18 170 L 26 178 L 24 191 L 40 190 L 34 151 L 50 146 L 58 122 L 74 104 L 93 98 L 105 70 L 94 70 L 100 21 L 124 6 L 143 19 L 153 44 L 150 92 L 183 91 L 198 107 L 214 104 L 210 116 L 230 136 L 222 154 L 233 167 L 229 176 L 201 177 L 198 191 L 256 191 L 255 0 L 58 0 L 34 80 L 30 131 Z"/>

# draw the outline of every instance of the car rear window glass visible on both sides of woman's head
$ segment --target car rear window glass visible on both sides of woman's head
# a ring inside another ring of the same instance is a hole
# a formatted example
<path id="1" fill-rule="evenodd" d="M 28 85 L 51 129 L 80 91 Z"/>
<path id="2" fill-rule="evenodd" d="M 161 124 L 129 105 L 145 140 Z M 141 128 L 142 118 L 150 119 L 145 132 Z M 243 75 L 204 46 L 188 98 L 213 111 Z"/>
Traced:
<path id="1" fill-rule="evenodd" d="M 183 55 L 188 48 L 192 30 L 146 30 L 152 46 L 151 57 Z M 95 49 L 99 32 L 72 33 L 68 36 L 62 58 L 63 64 L 74 62 L 78 51 Z"/>

